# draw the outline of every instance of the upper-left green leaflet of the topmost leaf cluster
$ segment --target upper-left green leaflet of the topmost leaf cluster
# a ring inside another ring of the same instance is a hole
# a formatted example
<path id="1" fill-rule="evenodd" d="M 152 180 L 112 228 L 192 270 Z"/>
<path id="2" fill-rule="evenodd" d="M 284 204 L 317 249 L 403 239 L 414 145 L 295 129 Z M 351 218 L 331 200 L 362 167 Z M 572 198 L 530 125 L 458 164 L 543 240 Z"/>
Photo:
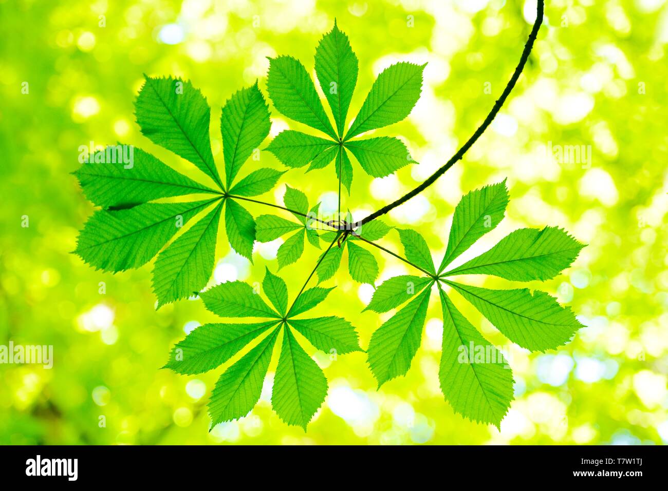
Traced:
<path id="1" fill-rule="evenodd" d="M 291 56 L 269 59 L 267 90 L 274 106 L 283 115 L 337 139 L 313 80 L 297 59 Z"/>

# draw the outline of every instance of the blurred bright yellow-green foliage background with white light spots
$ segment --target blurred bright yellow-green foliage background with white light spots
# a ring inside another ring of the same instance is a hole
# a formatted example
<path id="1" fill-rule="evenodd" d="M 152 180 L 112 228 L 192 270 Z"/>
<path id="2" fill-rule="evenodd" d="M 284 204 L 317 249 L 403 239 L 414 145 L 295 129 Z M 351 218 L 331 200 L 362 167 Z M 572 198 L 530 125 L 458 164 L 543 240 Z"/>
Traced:
<path id="1" fill-rule="evenodd" d="M 517 227 L 565 227 L 589 246 L 564 274 L 529 286 L 570 304 L 587 327 L 558 352 L 512 349 L 516 400 L 498 431 L 444 402 L 441 313 L 432 299 L 411 370 L 379 392 L 363 353 L 337 360 L 313 353 L 329 395 L 305 434 L 271 410 L 276 360 L 253 412 L 210 433 L 206 400 L 220 370 L 196 377 L 159 370 L 174 342 L 214 316 L 199 301 L 156 312 L 149 266 L 103 274 L 69 254 L 92 213 L 70 175 L 79 145 L 134 144 L 197 178 L 192 165 L 139 133 L 133 101 L 142 74 L 178 75 L 202 90 L 220 165 L 220 105 L 255 79 L 265 90 L 267 56 L 294 55 L 311 71 L 315 46 L 336 17 L 360 61 L 351 116 L 381 69 L 399 60 L 428 62 L 411 115 L 378 131 L 402 137 L 420 164 L 375 180 L 356 167 L 345 202 L 361 217 L 428 177 L 474 131 L 518 61 L 535 2 L 0 0 L 0 344 L 51 344 L 55 358 L 51 370 L 0 365 L 0 443 L 668 442 L 668 5 L 547 4 L 524 75 L 492 127 L 464 161 L 385 219 L 418 229 L 440 260 L 462 193 L 508 177 L 506 219 L 462 260 Z M 272 135 L 294 127 L 274 110 L 272 117 Z M 591 161 L 550 158 L 548 149 L 558 145 L 591 145 Z M 261 159 L 281 167 L 266 151 Z M 311 202 L 335 205 L 334 173 L 318 172 L 289 171 L 269 200 L 290 183 Z M 29 227 L 21 227 L 24 215 Z M 382 243 L 399 250 L 396 233 Z M 261 280 L 265 264 L 276 268 L 277 246 L 259 247 L 251 266 L 222 235 L 210 284 Z M 317 254 L 307 248 L 284 270 L 293 294 Z M 391 257 L 378 259 L 381 280 L 407 272 Z M 385 319 L 360 313 L 371 287 L 353 283 L 343 268 L 335 284 L 323 315 L 351 320 L 368 346 Z M 480 314 L 464 312 L 490 341 L 507 346 Z"/>

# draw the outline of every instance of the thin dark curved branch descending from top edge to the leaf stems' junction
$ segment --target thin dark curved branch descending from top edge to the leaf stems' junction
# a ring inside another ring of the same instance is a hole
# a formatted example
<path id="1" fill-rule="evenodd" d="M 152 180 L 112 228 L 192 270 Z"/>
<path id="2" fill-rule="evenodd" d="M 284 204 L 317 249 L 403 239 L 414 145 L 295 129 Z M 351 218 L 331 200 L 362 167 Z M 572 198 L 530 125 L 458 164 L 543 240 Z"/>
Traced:
<path id="1" fill-rule="evenodd" d="M 490 113 L 487 115 L 484 121 L 482 121 L 482 124 L 476 129 L 476 132 L 473 133 L 473 135 L 462 145 L 462 147 L 452 155 L 452 158 L 446 162 L 446 164 L 438 169 L 438 171 L 434 172 L 426 181 L 424 181 L 422 184 L 420 184 L 418 187 L 415 187 L 412 191 L 409 191 L 405 195 L 401 196 L 399 199 L 396 201 L 393 201 L 392 203 L 389 203 L 389 205 L 383 206 L 381 209 L 378 211 L 375 211 L 374 213 L 371 213 L 371 215 L 355 222 L 353 224 L 353 228 L 357 228 L 360 225 L 364 225 L 365 223 L 368 223 L 369 221 L 376 219 L 377 217 L 381 215 L 385 215 L 388 211 L 391 209 L 402 205 L 411 197 L 414 197 L 415 195 L 418 195 L 422 193 L 427 187 L 432 185 L 436 179 L 441 177 L 450 167 L 452 167 L 458 160 L 462 159 L 464 157 L 464 153 L 472 147 L 474 143 L 480 138 L 482 133 L 487 129 L 487 127 L 492 123 L 492 119 L 496 116 L 498 111 L 500 111 L 502 105 L 506 102 L 506 99 L 508 99 L 508 95 L 510 95 L 510 92 L 512 89 L 515 87 L 515 83 L 517 80 L 520 78 L 520 74 L 522 73 L 522 70 L 524 69 L 524 65 L 526 65 L 526 60 L 529 57 L 529 53 L 531 53 L 531 49 L 534 46 L 534 41 L 536 41 L 536 36 L 538 35 L 538 29 L 540 29 L 540 25 L 542 24 L 542 17 L 543 17 L 543 8 L 544 8 L 544 0 L 537 0 L 537 14 L 536 14 L 536 21 L 534 22 L 534 27 L 531 29 L 531 33 L 529 34 L 529 38 L 526 40 L 526 44 L 524 45 L 524 51 L 522 51 L 522 57 L 520 57 L 520 62 L 518 63 L 517 67 L 515 68 L 514 73 L 512 74 L 512 77 L 510 77 L 510 81 L 508 81 L 508 85 L 506 85 L 506 88 L 504 89 L 503 93 L 501 94 L 501 97 L 499 97 L 496 102 L 494 103 L 494 106 L 492 107 L 492 110 Z"/>

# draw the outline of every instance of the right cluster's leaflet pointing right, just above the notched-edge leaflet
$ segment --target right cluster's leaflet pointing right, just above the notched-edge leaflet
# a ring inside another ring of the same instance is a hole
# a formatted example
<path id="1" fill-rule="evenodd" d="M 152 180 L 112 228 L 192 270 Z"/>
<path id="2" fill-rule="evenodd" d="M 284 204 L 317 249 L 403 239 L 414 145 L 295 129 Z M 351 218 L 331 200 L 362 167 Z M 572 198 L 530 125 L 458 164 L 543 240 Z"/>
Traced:
<path id="1" fill-rule="evenodd" d="M 583 247 L 557 227 L 522 228 L 446 275 L 491 274 L 519 282 L 551 280 L 570 266 Z"/>

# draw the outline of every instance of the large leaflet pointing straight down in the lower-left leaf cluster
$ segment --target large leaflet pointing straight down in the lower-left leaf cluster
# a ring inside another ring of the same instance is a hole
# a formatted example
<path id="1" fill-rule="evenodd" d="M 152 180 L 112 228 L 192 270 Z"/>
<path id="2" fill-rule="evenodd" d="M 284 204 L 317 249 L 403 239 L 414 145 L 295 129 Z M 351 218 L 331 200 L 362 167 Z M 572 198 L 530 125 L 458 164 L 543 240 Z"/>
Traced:
<path id="1" fill-rule="evenodd" d="M 283 346 L 276 368 L 271 405 L 289 425 L 304 428 L 325 401 L 327 379 L 320 367 L 303 350 L 290 329 L 283 329 Z"/>

